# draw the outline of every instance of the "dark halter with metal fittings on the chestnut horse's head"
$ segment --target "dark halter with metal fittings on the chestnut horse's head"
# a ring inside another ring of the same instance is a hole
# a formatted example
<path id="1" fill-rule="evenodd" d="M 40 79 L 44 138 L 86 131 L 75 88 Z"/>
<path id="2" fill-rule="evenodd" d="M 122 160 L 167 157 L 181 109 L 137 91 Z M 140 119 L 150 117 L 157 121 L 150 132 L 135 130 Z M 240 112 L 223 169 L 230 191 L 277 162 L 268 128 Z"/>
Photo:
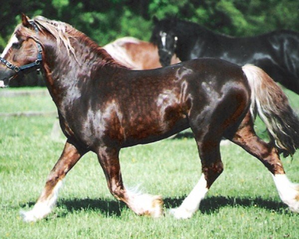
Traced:
<path id="1" fill-rule="evenodd" d="M 30 20 L 29 23 L 33 26 L 35 33 L 38 34 L 38 28 L 37 28 L 36 24 L 34 23 L 34 21 Z M 15 66 L 15 65 L 11 64 L 9 61 L 6 61 L 4 58 L 0 57 L 0 63 L 3 63 L 7 68 L 14 70 L 16 73 L 18 73 L 19 71 L 22 71 L 22 70 L 26 70 L 28 68 L 38 66 L 36 70 L 39 73 L 39 71 L 40 71 L 39 66 L 42 61 L 42 48 L 41 48 L 41 45 L 39 42 L 36 42 L 36 45 L 37 45 L 38 53 L 37 53 L 37 59 L 34 62 L 26 64 L 26 65 L 22 65 L 22 66 Z"/>

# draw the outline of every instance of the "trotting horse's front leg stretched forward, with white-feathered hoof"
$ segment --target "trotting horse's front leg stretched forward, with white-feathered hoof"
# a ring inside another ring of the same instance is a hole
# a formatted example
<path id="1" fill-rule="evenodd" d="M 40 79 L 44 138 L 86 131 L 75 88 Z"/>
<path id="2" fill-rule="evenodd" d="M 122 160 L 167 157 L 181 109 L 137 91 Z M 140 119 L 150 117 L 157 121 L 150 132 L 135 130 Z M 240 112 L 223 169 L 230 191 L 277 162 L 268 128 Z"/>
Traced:
<path id="1" fill-rule="evenodd" d="M 85 153 L 86 151 L 78 150 L 70 142 L 65 143 L 63 152 L 50 172 L 46 185 L 33 209 L 28 212 L 21 212 L 25 222 L 42 219 L 51 212 L 55 206 L 62 179 Z"/>

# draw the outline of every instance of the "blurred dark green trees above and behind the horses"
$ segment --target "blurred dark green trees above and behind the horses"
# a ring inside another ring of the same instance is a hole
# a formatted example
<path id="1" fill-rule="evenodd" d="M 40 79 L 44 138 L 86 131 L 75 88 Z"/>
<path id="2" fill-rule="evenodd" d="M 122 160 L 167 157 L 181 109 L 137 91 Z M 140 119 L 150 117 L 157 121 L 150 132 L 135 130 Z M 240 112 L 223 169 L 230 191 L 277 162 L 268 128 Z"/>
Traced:
<path id="1" fill-rule="evenodd" d="M 122 36 L 148 41 L 154 15 L 175 15 L 232 36 L 299 30 L 298 0 L 13 0 L 0 4 L 0 51 L 21 12 L 70 23 L 100 45 Z"/>

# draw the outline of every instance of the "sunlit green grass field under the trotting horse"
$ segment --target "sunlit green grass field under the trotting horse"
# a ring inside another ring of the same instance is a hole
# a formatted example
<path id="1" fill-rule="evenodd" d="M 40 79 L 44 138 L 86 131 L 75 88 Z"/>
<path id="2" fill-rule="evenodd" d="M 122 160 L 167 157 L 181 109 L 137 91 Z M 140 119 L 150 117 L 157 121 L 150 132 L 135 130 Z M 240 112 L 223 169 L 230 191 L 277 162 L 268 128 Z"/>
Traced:
<path id="1" fill-rule="evenodd" d="M 299 113 L 299 96 L 286 93 Z M 45 96 L 0 97 L 0 113 L 19 111 L 51 112 L 55 106 Z M 185 137 L 121 151 L 125 184 L 161 195 L 165 217 L 137 216 L 114 199 L 96 155 L 88 153 L 67 175 L 53 212 L 24 223 L 19 211 L 33 206 L 63 148 L 63 136 L 50 136 L 55 120 L 0 117 L 0 239 L 299 238 L 299 214 L 281 202 L 268 170 L 231 143 L 221 146 L 224 172 L 200 210 L 189 220 L 169 216 L 167 209 L 178 206 L 201 175 L 195 141 Z M 256 129 L 264 137 L 260 122 Z M 299 183 L 299 150 L 283 163 L 289 178 Z"/>

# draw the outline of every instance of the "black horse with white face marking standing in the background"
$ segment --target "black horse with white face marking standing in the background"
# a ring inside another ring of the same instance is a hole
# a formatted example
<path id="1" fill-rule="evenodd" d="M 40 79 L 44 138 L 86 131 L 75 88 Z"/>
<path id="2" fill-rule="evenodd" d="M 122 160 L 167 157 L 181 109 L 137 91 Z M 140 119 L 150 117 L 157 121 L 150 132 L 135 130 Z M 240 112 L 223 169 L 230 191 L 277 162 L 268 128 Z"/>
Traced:
<path id="1" fill-rule="evenodd" d="M 150 41 L 158 46 L 162 66 L 175 53 L 181 61 L 220 58 L 238 65 L 252 63 L 275 81 L 299 94 L 299 33 L 278 30 L 253 37 L 217 34 L 194 22 L 153 18 Z"/>

